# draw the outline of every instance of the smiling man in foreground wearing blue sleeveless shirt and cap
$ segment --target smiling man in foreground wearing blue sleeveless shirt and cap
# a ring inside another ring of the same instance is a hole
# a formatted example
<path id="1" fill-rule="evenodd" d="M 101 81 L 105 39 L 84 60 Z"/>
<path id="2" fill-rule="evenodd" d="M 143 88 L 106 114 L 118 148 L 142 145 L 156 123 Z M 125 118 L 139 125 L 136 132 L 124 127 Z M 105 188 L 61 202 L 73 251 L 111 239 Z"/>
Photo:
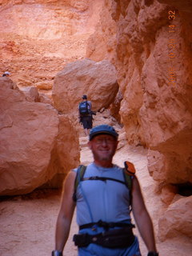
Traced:
<path id="1" fill-rule="evenodd" d="M 88 146 L 94 162 L 79 166 L 66 176 L 55 232 L 52 256 L 62 256 L 77 205 L 78 234 L 74 243 L 78 256 L 141 256 L 130 211 L 148 249 L 147 256 L 158 256 L 154 228 L 146 210 L 134 165 L 113 164 L 118 133 L 112 126 L 90 130 Z"/>

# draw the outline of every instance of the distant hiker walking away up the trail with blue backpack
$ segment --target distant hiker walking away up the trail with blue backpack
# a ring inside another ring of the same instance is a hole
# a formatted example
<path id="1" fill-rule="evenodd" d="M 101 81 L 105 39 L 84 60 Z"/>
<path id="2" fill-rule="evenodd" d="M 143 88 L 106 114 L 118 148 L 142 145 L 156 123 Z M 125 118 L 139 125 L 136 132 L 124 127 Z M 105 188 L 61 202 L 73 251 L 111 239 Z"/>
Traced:
<path id="1" fill-rule="evenodd" d="M 89 130 L 93 126 L 93 118 L 91 111 L 91 102 L 87 101 L 87 96 L 82 96 L 82 102 L 78 105 L 78 118 L 79 122 L 82 124 L 85 134 L 89 135 Z"/>

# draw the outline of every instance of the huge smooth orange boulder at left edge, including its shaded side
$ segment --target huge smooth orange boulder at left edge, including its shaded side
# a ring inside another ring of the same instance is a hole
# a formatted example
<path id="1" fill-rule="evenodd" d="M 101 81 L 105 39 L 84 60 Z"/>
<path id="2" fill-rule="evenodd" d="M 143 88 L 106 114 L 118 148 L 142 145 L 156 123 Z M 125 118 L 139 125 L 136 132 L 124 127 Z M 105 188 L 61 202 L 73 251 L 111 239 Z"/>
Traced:
<path id="1" fill-rule="evenodd" d="M 14 89 L 10 78 L 0 78 L 0 90 L 0 194 L 26 194 L 57 175 L 61 185 L 79 160 L 69 118 Z"/>

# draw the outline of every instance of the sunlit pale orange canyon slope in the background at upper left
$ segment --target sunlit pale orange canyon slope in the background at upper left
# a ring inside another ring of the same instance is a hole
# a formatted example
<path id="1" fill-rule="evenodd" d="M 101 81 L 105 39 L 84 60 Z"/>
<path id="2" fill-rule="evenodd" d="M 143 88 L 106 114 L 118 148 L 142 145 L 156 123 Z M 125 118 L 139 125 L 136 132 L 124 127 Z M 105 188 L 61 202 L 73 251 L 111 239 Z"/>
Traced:
<path id="1" fill-rule="evenodd" d="M 54 76 L 86 54 L 103 0 L 1 0 L 0 73 L 51 98 Z"/>

